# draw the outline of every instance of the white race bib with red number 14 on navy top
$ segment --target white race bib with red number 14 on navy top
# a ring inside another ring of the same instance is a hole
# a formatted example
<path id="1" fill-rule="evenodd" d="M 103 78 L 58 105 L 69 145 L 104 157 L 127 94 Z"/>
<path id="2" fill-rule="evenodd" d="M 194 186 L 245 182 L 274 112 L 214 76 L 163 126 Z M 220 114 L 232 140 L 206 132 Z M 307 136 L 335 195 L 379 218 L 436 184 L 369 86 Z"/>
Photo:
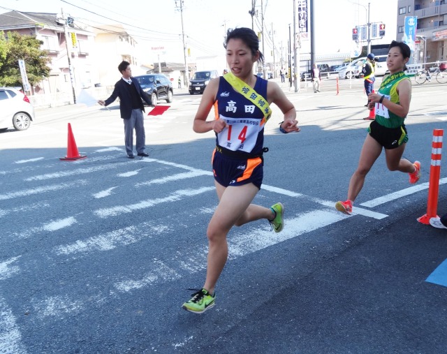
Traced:
<path id="1" fill-rule="evenodd" d="M 217 134 L 217 141 L 221 147 L 233 152 L 251 152 L 253 150 L 258 133 L 262 130 L 261 119 L 254 118 L 228 118 L 220 115 L 228 124 L 228 128 Z"/>

